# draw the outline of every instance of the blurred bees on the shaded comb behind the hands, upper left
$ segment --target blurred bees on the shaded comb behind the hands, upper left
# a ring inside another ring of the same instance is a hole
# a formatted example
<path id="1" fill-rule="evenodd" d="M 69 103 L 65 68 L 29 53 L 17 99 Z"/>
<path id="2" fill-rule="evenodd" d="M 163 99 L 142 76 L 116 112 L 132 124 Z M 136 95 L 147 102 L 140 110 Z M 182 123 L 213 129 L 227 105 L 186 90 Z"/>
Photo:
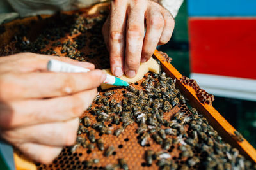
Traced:
<path id="1" fill-rule="evenodd" d="M 102 13 L 104 12 L 102 11 Z M 40 17 L 40 15 L 38 15 L 38 17 Z M 13 38 L 16 42 L 15 46 L 20 52 L 33 52 L 59 56 L 58 52 L 54 50 L 55 47 L 58 47 L 60 48 L 60 52 L 66 57 L 85 61 L 85 54 L 79 50 L 87 45 L 88 38 L 90 38 L 90 41 L 87 46 L 90 48 L 98 48 L 98 52 L 90 52 L 86 54 L 86 57 L 93 58 L 95 55 L 99 55 L 99 52 L 105 50 L 106 46 L 104 41 L 98 41 L 99 38 L 102 38 L 101 29 L 98 27 L 102 27 L 106 18 L 104 15 L 95 18 L 86 18 L 78 13 L 76 15 L 58 13 L 52 18 L 45 19 L 47 21 L 49 20 L 48 22 L 44 21 L 46 28 L 37 36 L 35 41 L 29 41 L 28 39 L 29 27 L 20 25 L 19 34 L 16 34 Z M 56 22 L 54 18 L 58 22 Z M 40 20 L 42 20 L 42 18 L 40 18 Z M 97 25 L 93 25 L 96 22 Z M 84 34 L 86 32 L 90 32 L 93 36 L 87 37 Z M 74 38 L 61 43 L 61 40 L 63 38 L 65 39 L 67 35 L 74 36 Z M 51 46 L 51 48 L 47 48 L 47 46 Z"/>

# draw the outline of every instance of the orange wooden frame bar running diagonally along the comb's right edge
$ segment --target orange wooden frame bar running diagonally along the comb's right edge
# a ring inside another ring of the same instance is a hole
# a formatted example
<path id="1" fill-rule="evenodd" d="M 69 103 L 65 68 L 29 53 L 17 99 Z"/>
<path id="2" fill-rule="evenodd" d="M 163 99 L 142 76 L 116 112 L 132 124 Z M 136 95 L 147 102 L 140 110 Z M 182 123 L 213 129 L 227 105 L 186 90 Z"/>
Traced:
<path id="1" fill-rule="evenodd" d="M 179 81 L 182 74 L 180 74 L 179 71 L 172 66 L 172 64 L 166 62 L 166 59 L 164 59 L 164 57 L 157 50 L 155 50 L 154 55 L 161 62 L 161 66 L 166 74 L 173 79 L 177 79 L 176 85 L 180 89 L 180 92 L 182 92 L 182 94 L 189 99 L 189 104 L 191 104 L 191 106 L 196 108 L 196 110 L 207 118 L 212 127 L 214 127 L 214 129 L 216 129 L 216 131 L 223 138 L 223 141 L 229 143 L 233 147 L 236 147 L 239 152 L 244 155 L 244 157 L 256 163 L 255 148 L 253 148 L 253 146 L 250 145 L 246 139 L 244 139 L 243 142 L 237 141 L 234 137 L 234 131 L 236 131 L 236 129 L 234 129 L 234 127 L 232 127 L 232 125 L 230 125 L 213 106 L 200 103 L 196 97 L 195 90 Z"/>

